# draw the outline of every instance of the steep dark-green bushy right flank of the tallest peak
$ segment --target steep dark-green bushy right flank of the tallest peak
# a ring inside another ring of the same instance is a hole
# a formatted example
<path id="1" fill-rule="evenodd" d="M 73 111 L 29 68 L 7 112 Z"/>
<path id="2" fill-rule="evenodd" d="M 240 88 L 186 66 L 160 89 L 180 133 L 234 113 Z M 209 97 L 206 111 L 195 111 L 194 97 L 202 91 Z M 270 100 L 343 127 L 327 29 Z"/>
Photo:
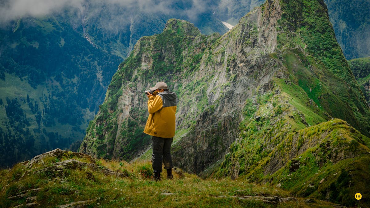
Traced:
<path id="1" fill-rule="evenodd" d="M 329 110 L 329 108 L 336 107 L 337 101 L 334 101 L 333 98 L 325 97 L 325 99 L 332 99 L 332 101 L 328 101 L 330 106 L 325 109 L 328 111 L 327 113 L 348 121 L 363 134 L 369 136 L 369 107 L 336 41 L 324 2 L 321 0 L 299 0 L 294 2 L 281 0 L 279 2 L 282 6 L 282 18 L 278 20 L 279 33 L 277 34 L 277 41 L 279 48 L 281 50 L 285 48 L 288 50 L 302 48 L 300 49 L 302 50 L 300 52 L 303 53 L 302 55 L 295 53 L 299 56 L 300 61 L 304 63 L 307 70 L 315 78 L 325 83 L 330 91 L 336 93 L 334 94 L 338 99 L 334 100 L 347 103 L 346 105 L 353 111 L 353 115 L 351 113 L 345 113 L 345 115 L 336 114 L 339 109 L 348 107 L 341 104 L 342 106 L 337 110 Z M 313 13 L 312 11 L 315 12 Z M 287 61 L 286 58 L 285 60 Z M 297 77 L 297 74 L 295 76 Z M 305 81 L 302 78 L 306 77 L 297 78 L 301 78 L 300 81 L 302 82 Z M 310 85 L 317 86 L 317 82 L 316 84 L 311 82 Z M 310 86 L 302 84 L 300 86 L 306 92 L 310 89 Z"/>

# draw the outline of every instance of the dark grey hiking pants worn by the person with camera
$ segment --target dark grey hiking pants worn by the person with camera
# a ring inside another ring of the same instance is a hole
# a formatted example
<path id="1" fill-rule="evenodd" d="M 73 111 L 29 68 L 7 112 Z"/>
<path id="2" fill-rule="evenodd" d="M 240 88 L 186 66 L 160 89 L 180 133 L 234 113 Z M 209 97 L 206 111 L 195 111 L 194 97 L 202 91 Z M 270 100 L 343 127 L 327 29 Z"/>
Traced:
<path id="1" fill-rule="evenodd" d="M 154 172 L 162 172 L 162 161 L 165 169 L 172 168 L 172 138 L 152 137 L 152 166 Z"/>

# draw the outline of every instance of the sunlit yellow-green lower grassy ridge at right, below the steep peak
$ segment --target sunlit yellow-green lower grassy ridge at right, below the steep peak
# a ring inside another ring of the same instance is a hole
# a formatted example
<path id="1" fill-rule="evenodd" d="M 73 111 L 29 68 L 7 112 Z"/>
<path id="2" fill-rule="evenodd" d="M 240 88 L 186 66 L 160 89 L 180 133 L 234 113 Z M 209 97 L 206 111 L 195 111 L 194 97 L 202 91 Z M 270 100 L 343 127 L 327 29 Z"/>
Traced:
<path id="1" fill-rule="evenodd" d="M 234 177 L 243 181 L 275 185 L 302 197 L 358 203 L 352 196 L 367 195 L 370 185 L 370 138 L 343 120 L 324 120 L 323 111 L 309 103 L 299 86 L 283 79 L 275 84 L 280 93 L 257 96 L 258 110 L 246 105 L 246 120 L 239 127 L 242 139 L 232 144 L 214 176 L 238 169 Z M 299 168 L 292 170 L 296 161 Z M 367 199 L 360 203 L 364 206 Z"/>

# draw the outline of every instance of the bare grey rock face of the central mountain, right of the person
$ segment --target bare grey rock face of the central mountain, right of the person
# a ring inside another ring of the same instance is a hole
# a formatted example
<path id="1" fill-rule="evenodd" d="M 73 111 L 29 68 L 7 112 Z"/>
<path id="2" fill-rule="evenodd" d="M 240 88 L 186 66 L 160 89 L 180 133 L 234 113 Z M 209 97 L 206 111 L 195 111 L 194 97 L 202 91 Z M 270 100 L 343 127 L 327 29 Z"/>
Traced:
<path id="1" fill-rule="evenodd" d="M 225 54 L 216 57 L 225 61 L 215 66 L 201 62 L 194 77 L 214 76 L 206 86 L 208 105 L 214 107 L 201 113 L 196 118 L 194 131 L 184 135 L 175 145 L 174 160 L 181 167 L 187 167 L 187 171 L 200 173 L 221 159 L 238 138 L 245 100 L 253 96 L 258 86 L 263 86 L 262 93 L 269 90 L 269 81 L 280 66 L 267 55 L 275 50 L 277 33 L 273 26 L 280 16 L 279 7 L 273 7 L 264 15 L 261 9 L 252 11 L 229 34 L 222 36 L 213 50 L 225 48 Z M 181 110 L 188 111 L 186 107 Z"/>

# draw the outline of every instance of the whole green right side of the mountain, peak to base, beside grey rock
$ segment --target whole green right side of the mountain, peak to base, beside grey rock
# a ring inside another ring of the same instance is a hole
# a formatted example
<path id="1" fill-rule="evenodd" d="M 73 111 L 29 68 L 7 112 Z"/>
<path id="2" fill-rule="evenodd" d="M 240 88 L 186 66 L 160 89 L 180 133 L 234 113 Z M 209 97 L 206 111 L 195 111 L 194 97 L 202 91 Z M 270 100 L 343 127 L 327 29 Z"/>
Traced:
<path id="1" fill-rule="evenodd" d="M 214 175 L 365 206 L 367 199 L 353 196 L 366 193 L 370 184 L 360 180 L 370 171 L 369 138 L 364 136 L 369 135 L 369 108 L 321 3 L 280 1 L 280 50 L 272 57 L 282 61 L 289 78 L 274 78 L 270 93 L 256 92 L 247 100 L 240 139 Z M 360 132 L 330 118 L 346 120 Z M 292 170 L 296 161 L 300 165 Z"/>

